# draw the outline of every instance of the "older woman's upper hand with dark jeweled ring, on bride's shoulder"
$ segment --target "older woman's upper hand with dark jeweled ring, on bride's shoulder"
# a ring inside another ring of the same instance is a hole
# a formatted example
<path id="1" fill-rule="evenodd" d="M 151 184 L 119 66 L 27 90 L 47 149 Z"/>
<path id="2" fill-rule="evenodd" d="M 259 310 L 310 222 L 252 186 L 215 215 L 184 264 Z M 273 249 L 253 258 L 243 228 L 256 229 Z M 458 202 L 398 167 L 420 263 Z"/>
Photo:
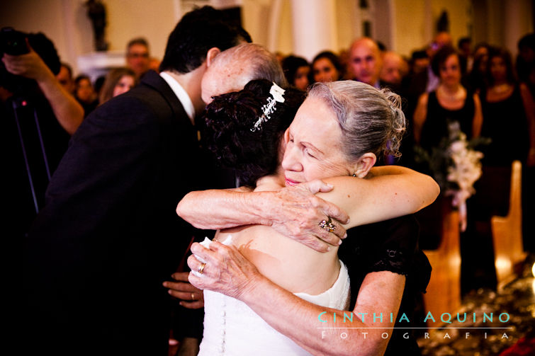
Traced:
<path id="1" fill-rule="evenodd" d="M 282 188 L 275 193 L 274 205 L 269 207 L 275 219 L 271 220 L 271 226 L 316 251 L 327 252 L 329 244 L 338 246 L 347 236 L 342 224 L 349 222 L 349 216 L 336 205 L 315 196 L 315 193 L 330 190 L 332 185 L 321 180 Z M 329 217 L 335 226 L 333 232 L 320 227 L 320 222 Z"/>

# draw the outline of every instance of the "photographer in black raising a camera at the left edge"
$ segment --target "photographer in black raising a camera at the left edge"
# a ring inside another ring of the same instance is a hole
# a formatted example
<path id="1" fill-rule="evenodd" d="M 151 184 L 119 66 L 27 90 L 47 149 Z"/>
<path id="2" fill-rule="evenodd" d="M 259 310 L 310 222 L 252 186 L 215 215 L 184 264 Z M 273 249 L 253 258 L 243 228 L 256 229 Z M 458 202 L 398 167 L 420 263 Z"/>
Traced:
<path id="1" fill-rule="evenodd" d="M 60 58 L 43 33 L 0 32 L 2 168 L 8 179 L 6 219 L 22 237 L 45 203 L 52 173 L 84 112 L 55 78 Z"/>

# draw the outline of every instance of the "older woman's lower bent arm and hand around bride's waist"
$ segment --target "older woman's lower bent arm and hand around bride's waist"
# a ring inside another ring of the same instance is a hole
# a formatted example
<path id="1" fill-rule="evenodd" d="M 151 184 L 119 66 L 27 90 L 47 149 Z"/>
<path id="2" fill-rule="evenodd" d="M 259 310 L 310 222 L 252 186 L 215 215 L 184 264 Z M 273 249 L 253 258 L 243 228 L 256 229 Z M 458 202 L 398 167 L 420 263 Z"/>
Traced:
<path id="1" fill-rule="evenodd" d="M 191 284 L 240 299 L 313 355 L 355 355 L 355 350 L 359 355 L 385 352 L 400 308 L 404 275 L 386 270 L 368 273 L 354 310 L 344 311 L 306 302 L 279 287 L 261 275 L 235 246 L 214 242 L 203 248 L 193 243 L 191 251 L 207 261 L 202 277 L 190 273 Z M 198 269 L 199 264 L 194 255 L 188 258 L 191 270 Z M 374 320 L 373 313 L 383 313 L 384 317 Z M 348 328 L 344 329 L 347 338 L 340 338 L 337 326 Z M 388 333 L 388 338 L 383 338 L 383 333 Z"/>

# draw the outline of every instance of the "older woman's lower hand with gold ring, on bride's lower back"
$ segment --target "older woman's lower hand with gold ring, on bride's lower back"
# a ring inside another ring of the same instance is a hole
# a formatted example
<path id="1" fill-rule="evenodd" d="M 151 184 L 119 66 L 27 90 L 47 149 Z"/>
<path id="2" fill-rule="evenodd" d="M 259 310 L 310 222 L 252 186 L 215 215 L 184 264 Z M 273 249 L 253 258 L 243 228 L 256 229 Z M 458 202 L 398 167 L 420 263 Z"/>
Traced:
<path id="1" fill-rule="evenodd" d="M 229 297 L 240 299 L 253 288 L 255 280 L 261 278 L 257 268 L 244 258 L 235 246 L 225 246 L 218 241 L 212 241 L 210 248 L 204 248 L 200 243 L 191 245 L 193 255 L 188 257 L 188 266 L 192 271 L 198 271 L 201 262 L 206 261 L 202 275 L 190 272 L 188 280 L 200 289 L 208 289 L 223 293 Z"/>

